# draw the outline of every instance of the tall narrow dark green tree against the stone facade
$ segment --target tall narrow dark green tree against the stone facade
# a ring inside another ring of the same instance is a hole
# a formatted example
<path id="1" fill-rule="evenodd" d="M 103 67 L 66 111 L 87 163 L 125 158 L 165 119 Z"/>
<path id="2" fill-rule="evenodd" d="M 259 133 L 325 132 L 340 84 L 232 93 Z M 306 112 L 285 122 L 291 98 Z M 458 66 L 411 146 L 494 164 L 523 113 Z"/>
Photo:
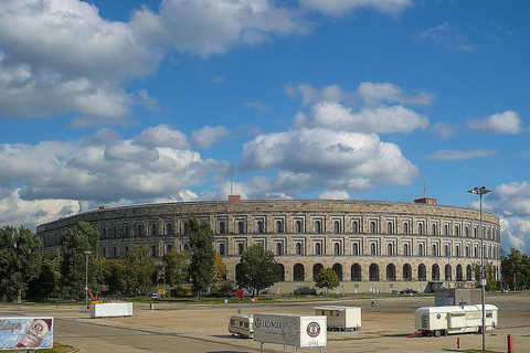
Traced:
<path id="1" fill-rule="evenodd" d="M 191 261 L 190 261 L 190 277 L 191 277 L 191 291 L 198 300 L 201 293 L 204 292 L 213 282 L 212 270 L 215 258 L 215 250 L 213 249 L 213 236 L 212 226 L 205 221 L 198 221 L 197 217 L 192 217 L 187 222 L 190 248 L 191 248 Z"/>

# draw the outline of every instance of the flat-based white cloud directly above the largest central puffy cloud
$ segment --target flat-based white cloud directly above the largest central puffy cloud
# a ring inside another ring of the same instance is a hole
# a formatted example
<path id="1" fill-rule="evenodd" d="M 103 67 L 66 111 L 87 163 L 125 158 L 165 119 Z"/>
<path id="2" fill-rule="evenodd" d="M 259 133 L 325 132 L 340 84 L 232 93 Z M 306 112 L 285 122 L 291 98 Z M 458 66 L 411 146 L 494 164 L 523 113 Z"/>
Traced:
<path id="1" fill-rule="evenodd" d="M 367 133 L 410 133 L 416 129 L 426 129 L 428 118 L 403 106 L 382 106 L 353 113 L 352 108 L 326 101 L 312 106 L 309 116 L 298 113 L 294 126 L 326 127 Z"/>

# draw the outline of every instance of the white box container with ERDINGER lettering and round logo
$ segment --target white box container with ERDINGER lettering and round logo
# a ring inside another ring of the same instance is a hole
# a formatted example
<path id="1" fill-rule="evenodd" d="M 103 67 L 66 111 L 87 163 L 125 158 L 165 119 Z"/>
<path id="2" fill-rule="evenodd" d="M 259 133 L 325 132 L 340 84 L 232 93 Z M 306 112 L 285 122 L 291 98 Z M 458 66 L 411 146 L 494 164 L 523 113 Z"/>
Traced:
<path id="1" fill-rule="evenodd" d="M 254 314 L 254 341 L 284 346 L 324 347 L 328 344 L 327 317 L 279 313 Z"/>

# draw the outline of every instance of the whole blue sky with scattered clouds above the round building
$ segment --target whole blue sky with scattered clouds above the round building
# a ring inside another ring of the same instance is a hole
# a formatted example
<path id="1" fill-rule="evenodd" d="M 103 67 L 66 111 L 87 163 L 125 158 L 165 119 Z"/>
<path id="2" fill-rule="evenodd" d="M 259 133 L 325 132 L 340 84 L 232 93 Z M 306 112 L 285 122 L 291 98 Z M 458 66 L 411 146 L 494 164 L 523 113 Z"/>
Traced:
<path id="1" fill-rule="evenodd" d="M 102 204 L 479 207 L 530 255 L 530 3 L 3 0 L 0 226 Z M 231 180 L 233 182 L 231 182 Z"/>

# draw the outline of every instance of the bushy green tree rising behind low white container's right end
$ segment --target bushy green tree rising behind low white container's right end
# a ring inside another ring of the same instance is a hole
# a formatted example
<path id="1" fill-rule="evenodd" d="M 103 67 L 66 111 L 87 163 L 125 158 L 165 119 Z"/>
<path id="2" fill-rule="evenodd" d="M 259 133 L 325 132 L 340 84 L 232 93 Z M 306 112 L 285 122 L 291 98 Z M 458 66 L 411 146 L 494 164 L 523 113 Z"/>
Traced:
<path id="1" fill-rule="evenodd" d="M 129 293 L 148 292 L 152 286 L 152 275 L 157 264 L 147 246 L 132 246 L 124 260 L 124 285 Z"/>

